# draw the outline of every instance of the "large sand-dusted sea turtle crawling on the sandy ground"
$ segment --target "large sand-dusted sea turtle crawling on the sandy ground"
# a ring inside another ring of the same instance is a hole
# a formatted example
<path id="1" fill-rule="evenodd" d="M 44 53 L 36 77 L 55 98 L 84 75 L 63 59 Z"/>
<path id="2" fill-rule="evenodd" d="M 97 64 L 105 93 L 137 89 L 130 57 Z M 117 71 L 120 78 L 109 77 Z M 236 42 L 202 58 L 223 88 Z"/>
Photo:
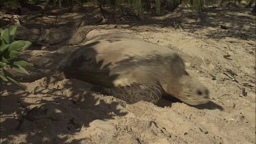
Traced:
<path id="1" fill-rule="evenodd" d="M 185 70 L 171 49 L 123 38 L 91 40 L 59 63 L 66 77 L 100 85 L 104 93 L 129 104 L 156 104 L 163 93 L 198 105 L 209 101 L 208 89 Z"/>

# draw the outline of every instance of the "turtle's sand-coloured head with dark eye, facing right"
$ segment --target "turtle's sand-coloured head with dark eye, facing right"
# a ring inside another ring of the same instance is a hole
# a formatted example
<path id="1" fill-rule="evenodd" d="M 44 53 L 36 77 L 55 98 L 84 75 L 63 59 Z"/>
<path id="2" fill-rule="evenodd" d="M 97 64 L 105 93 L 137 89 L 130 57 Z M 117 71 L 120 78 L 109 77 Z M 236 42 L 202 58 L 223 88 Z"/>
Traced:
<path id="1" fill-rule="evenodd" d="M 199 105 L 209 102 L 208 88 L 194 78 L 184 75 L 179 81 L 180 91 L 175 96 L 190 105 Z"/>

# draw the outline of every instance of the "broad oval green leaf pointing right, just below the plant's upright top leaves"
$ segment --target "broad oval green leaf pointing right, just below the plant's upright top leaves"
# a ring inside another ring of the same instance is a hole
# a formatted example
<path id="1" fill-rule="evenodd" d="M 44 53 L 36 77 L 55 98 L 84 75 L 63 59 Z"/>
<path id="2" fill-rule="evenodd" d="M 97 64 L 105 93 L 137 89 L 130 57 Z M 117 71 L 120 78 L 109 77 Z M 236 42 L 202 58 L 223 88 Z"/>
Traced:
<path id="1" fill-rule="evenodd" d="M 9 47 L 9 51 L 24 51 L 31 46 L 31 42 L 25 40 L 17 40 L 12 42 Z"/>

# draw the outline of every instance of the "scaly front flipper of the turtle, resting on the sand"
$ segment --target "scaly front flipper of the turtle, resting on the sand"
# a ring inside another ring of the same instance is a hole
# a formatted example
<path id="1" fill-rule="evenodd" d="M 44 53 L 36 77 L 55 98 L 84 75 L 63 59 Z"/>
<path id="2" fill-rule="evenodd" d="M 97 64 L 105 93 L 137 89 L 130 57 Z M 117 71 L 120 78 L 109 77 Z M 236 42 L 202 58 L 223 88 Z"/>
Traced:
<path id="1" fill-rule="evenodd" d="M 126 101 L 128 104 L 134 104 L 141 100 L 156 104 L 162 96 L 162 87 L 160 85 L 145 86 L 138 83 L 130 85 L 106 88 L 101 87 L 100 92 L 105 95 L 114 96 Z"/>

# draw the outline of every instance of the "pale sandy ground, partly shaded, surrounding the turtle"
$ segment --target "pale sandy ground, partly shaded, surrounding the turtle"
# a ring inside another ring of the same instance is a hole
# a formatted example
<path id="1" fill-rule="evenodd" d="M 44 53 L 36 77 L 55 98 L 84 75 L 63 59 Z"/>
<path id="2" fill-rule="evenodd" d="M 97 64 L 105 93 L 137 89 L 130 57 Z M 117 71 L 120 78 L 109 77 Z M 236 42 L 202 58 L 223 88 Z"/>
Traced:
<path id="1" fill-rule="evenodd" d="M 90 14 L 98 9 L 90 10 L 21 16 L 25 23 L 17 37 L 33 46 L 19 57 L 34 66 L 27 68 L 29 76 L 13 72 L 25 90 L 1 83 L 1 143 L 255 143 L 251 8 L 211 8 L 201 16 L 183 9 L 142 21 L 110 17 L 100 23 L 100 16 Z M 66 54 L 98 35 L 173 49 L 188 73 L 210 89 L 211 102 L 126 104 L 55 71 Z"/>

